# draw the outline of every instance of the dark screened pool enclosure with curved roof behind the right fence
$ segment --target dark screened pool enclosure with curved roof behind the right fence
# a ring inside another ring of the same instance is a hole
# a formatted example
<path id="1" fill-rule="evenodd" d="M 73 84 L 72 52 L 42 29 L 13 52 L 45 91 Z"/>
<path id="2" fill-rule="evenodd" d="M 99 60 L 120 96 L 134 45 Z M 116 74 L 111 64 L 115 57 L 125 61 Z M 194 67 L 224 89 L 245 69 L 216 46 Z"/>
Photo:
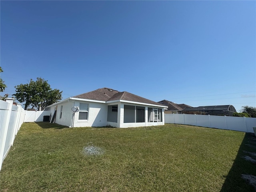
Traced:
<path id="1" fill-rule="evenodd" d="M 185 108 L 180 114 L 233 116 L 234 112 L 236 109 L 232 105 L 215 105 Z"/>

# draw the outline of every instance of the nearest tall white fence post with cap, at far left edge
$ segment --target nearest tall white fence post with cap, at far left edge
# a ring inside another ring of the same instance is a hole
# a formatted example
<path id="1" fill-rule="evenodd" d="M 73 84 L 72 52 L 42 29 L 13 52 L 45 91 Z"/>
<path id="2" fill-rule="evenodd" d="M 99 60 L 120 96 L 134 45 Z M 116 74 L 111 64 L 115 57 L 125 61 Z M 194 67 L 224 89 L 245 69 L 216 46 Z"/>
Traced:
<path id="1" fill-rule="evenodd" d="M 14 99 L 13 98 L 6 98 L 5 99 L 6 102 L 8 102 L 8 108 L 6 110 L 8 110 L 7 112 L 7 116 L 6 119 L 4 120 L 4 124 L 3 124 L 3 130 L 1 132 L 0 135 L 0 170 L 2 168 L 2 162 L 3 162 L 3 158 L 4 158 L 4 148 L 5 148 L 5 143 L 6 143 L 6 137 L 7 137 L 7 133 L 8 133 L 8 127 L 9 127 L 9 122 L 10 122 L 10 117 L 11 117 L 11 112 L 12 112 L 12 104 Z"/>

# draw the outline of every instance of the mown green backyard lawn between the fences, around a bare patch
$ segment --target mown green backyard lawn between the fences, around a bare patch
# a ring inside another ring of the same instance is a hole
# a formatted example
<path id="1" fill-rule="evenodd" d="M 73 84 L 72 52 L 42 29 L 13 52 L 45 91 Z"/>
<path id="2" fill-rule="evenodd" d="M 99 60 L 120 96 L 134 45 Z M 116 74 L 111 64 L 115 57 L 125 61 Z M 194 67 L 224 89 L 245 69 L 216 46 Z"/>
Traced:
<path id="1" fill-rule="evenodd" d="M 166 124 L 140 128 L 65 128 L 24 123 L 0 173 L 3 192 L 252 192 L 241 174 L 251 134 Z M 104 150 L 86 155 L 86 146 Z"/>

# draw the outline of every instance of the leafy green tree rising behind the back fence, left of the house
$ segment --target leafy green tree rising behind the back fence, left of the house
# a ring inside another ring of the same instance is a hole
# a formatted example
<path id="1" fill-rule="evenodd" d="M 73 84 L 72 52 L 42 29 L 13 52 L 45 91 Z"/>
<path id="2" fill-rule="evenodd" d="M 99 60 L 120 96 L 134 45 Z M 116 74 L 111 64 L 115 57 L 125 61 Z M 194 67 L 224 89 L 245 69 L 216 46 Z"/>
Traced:
<path id="1" fill-rule="evenodd" d="M 25 103 L 25 110 L 28 106 L 44 110 L 48 105 L 54 104 L 62 99 L 62 91 L 58 89 L 52 90 L 48 82 L 42 78 L 36 78 L 36 81 L 30 80 L 27 84 L 15 86 L 16 94 L 13 96 L 19 102 Z"/>

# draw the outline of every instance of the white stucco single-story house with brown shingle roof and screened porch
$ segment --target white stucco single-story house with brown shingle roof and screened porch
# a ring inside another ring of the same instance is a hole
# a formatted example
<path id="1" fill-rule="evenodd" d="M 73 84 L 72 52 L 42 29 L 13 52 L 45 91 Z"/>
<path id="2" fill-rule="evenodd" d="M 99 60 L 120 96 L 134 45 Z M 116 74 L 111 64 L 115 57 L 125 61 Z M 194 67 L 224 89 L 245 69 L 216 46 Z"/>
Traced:
<path id="1" fill-rule="evenodd" d="M 73 112 L 74 107 L 79 112 Z M 100 88 L 47 106 L 46 110 L 50 110 L 51 122 L 60 125 L 127 128 L 164 125 L 165 108 L 129 92 Z"/>

